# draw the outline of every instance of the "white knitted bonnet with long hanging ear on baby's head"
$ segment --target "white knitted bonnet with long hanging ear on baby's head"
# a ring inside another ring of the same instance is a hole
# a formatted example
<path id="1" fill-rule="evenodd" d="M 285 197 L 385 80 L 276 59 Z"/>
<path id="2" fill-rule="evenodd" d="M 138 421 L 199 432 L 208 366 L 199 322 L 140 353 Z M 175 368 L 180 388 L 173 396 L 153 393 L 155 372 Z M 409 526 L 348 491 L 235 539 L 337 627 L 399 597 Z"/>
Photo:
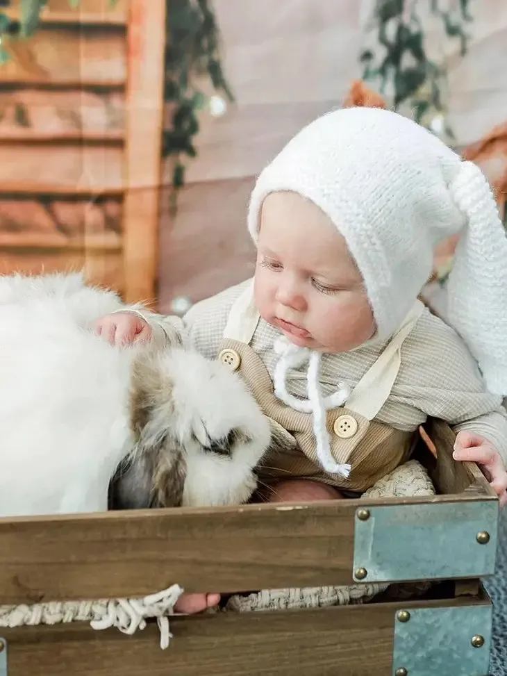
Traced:
<path id="1" fill-rule="evenodd" d="M 302 129 L 258 177 L 248 226 L 257 240 L 269 192 L 313 201 L 347 241 L 379 338 L 396 331 L 431 275 L 433 249 L 460 232 L 448 283 L 449 323 L 492 393 L 507 395 L 507 239 L 492 190 L 412 120 L 343 108 Z"/>

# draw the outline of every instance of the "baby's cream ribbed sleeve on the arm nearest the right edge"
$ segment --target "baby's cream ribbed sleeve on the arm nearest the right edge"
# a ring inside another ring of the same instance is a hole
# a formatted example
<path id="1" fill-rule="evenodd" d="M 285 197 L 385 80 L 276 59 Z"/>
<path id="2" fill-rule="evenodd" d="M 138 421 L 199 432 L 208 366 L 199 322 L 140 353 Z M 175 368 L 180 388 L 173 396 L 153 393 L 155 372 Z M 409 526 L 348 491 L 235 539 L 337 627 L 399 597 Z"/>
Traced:
<path id="1" fill-rule="evenodd" d="M 401 348 L 401 361 L 392 391 L 400 405 L 446 420 L 456 433 L 483 436 L 507 461 L 502 397 L 485 388 L 476 361 L 454 329 L 425 313 Z"/>

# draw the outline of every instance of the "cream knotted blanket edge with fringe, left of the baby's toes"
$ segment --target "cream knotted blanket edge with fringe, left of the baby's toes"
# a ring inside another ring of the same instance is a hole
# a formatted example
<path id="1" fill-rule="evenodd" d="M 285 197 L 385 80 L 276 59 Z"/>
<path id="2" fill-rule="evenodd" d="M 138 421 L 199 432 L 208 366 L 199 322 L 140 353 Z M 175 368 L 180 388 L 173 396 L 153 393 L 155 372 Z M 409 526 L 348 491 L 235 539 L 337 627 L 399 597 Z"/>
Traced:
<path id="1" fill-rule="evenodd" d="M 69 622 L 89 622 L 92 629 L 116 627 L 123 634 L 135 634 L 146 627 L 147 618 L 156 618 L 160 631 L 160 648 L 169 646 L 172 634 L 169 617 L 183 593 L 177 584 L 156 594 L 138 599 L 111 599 L 99 601 L 66 601 L 37 603 L 31 606 L 1 606 L 0 627 L 23 625 L 56 625 Z"/>

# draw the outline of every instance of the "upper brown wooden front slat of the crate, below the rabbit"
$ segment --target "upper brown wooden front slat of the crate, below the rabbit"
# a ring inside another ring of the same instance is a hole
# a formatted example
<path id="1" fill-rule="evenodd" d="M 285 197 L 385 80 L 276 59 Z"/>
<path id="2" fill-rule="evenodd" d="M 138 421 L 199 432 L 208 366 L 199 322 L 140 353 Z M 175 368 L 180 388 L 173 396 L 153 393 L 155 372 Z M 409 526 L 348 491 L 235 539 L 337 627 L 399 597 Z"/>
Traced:
<path id="1" fill-rule="evenodd" d="M 465 498 L 439 496 L 432 502 L 456 500 Z M 223 593 L 351 584 L 358 506 L 427 501 L 340 500 L 4 518 L 0 599 L 137 596 L 174 583 L 187 591 Z"/>

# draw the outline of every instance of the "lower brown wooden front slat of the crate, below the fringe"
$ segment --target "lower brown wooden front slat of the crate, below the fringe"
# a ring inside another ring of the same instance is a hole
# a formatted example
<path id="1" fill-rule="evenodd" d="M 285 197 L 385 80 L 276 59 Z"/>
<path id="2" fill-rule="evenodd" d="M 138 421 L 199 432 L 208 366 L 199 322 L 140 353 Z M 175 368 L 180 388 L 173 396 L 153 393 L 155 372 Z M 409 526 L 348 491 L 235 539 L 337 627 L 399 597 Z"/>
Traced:
<path id="1" fill-rule="evenodd" d="M 406 602 L 410 610 L 474 607 L 481 597 Z M 149 624 L 135 636 L 84 624 L 1 630 L 9 676 L 391 676 L 399 603 L 172 618 L 158 647 Z"/>

